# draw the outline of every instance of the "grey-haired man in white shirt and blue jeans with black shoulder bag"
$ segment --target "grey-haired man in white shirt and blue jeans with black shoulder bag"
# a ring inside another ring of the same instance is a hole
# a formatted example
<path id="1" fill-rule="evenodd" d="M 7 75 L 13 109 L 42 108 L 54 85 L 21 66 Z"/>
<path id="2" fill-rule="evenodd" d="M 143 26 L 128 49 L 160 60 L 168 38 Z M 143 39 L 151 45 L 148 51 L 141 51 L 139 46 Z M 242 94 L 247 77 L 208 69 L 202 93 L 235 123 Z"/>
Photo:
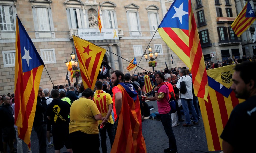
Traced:
<path id="1" fill-rule="evenodd" d="M 185 69 L 180 69 L 179 75 L 180 75 L 180 78 L 176 87 L 180 89 L 181 88 L 180 82 L 184 81 L 187 89 L 185 93 L 180 93 L 181 104 L 184 110 L 184 115 L 186 120 L 186 123 L 183 124 L 183 126 L 186 126 L 186 127 L 191 126 L 188 103 L 190 104 L 190 110 L 193 115 L 193 123 L 197 125 L 198 124 L 197 113 L 195 111 L 195 107 L 193 103 L 192 78 L 190 76 L 187 76 L 187 71 Z"/>

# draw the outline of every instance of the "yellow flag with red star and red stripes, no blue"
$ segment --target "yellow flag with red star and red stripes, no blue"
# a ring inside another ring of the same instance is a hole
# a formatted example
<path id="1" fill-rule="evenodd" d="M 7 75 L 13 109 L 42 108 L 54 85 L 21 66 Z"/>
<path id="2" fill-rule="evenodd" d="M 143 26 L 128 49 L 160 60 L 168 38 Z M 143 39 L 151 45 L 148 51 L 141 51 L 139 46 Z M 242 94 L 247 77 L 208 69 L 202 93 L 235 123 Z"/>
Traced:
<path id="1" fill-rule="evenodd" d="M 73 35 L 84 88 L 94 89 L 106 49 Z"/>

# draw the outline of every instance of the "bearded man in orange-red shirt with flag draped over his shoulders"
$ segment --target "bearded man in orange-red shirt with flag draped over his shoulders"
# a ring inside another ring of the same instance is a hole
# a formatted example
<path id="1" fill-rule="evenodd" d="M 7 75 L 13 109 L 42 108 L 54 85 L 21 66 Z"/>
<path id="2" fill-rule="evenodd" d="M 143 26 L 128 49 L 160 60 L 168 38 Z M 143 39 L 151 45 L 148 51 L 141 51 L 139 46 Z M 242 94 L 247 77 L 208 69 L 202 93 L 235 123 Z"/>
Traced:
<path id="1" fill-rule="evenodd" d="M 133 146 L 134 152 L 143 153 L 146 152 L 146 145 L 142 136 L 138 93 L 132 85 L 124 81 L 121 71 L 112 72 L 115 140 L 111 152 L 128 152 L 131 150 L 130 146 Z"/>

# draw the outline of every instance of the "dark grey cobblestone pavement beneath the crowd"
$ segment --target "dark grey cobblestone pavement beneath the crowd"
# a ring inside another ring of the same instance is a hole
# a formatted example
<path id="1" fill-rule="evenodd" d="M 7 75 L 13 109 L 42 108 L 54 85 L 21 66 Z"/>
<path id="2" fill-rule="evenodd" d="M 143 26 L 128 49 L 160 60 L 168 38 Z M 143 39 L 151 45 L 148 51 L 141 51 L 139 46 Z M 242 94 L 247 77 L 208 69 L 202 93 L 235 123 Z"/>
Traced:
<path id="1" fill-rule="evenodd" d="M 156 101 L 147 102 L 148 105 L 153 105 L 155 109 L 151 110 L 153 113 L 158 110 Z M 201 115 L 200 115 L 201 116 Z M 183 119 L 185 116 L 183 115 Z M 219 153 L 220 151 L 208 151 L 207 141 L 205 136 L 204 125 L 199 121 L 198 125 L 192 125 L 191 127 L 183 127 L 180 122 L 179 126 L 173 127 L 175 134 L 178 152 L 179 153 Z M 163 150 L 168 147 L 168 137 L 164 132 L 161 121 L 146 119 L 142 122 L 142 132 L 146 143 L 148 153 L 163 153 Z M 51 137 L 52 141 L 52 137 Z M 34 130 L 31 133 L 31 147 L 32 152 L 38 152 L 38 140 Z M 26 145 L 24 144 L 24 153 L 26 152 Z M 110 152 L 110 142 L 107 138 L 107 149 Z M 61 152 L 65 152 L 66 148 L 62 148 Z M 101 147 L 100 147 L 101 151 Z M 48 153 L 54 152 L 54 147 L 47 148 Z M 102 151 L 101 151 L 102 152 Z"/>

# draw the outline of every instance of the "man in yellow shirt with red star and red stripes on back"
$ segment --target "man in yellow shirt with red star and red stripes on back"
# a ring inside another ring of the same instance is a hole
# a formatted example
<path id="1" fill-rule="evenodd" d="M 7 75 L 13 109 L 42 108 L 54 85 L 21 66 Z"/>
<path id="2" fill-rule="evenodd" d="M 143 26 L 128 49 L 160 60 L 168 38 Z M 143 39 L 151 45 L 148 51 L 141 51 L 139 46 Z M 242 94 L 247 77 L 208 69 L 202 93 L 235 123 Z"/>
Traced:
<path id="1" fill-rule="evenodd" d="M 103 84 L 101 81 L 97 81 L 95 83 L 95 95 L 93 98 L 93 101 L 95 102 L 95 104 L 97 105 L 99 111 L 101 112 L 101 116 L 105 117 L 106 120 L 106 124 L 103 127 L 103 129 L 100 129 L 100 124 L 101 121 L 99 121 L 99 131 L 100 131 L 100 137 L 101 137 L 101 149 L 102 149 L 102 153 L 106 153 L 107 152 L 107 145 L 106 145 L 106 130 L 108 131 L 108 137 L 110 139 L 110 145 L 112 148 L 115 136 L 114 136 L 114 128 L 113 128 L 113 118 L 112 118 L 112 110 L 113 110 L 113 100 L 112 97 L 110 96 L 110 94 L 105 93 L 103 90 Z"/>

